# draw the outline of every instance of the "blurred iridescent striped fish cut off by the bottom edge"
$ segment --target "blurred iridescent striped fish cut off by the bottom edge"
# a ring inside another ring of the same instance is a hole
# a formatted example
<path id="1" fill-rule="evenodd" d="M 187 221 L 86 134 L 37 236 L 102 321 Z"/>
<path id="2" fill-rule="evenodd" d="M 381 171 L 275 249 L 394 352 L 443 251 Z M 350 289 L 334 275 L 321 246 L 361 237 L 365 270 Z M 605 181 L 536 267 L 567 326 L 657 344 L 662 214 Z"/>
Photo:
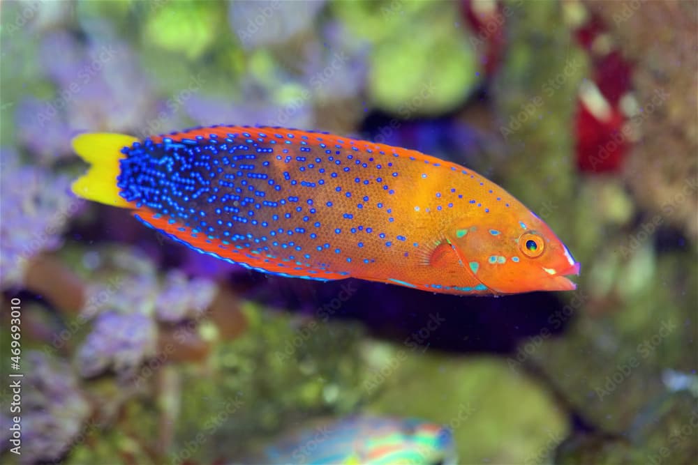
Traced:
<path id="1" fill-rule="evenodd" d="M 415 418 L 355 415 L 282 433 L 246 464 L 456 464 L 452 432 Z"/>

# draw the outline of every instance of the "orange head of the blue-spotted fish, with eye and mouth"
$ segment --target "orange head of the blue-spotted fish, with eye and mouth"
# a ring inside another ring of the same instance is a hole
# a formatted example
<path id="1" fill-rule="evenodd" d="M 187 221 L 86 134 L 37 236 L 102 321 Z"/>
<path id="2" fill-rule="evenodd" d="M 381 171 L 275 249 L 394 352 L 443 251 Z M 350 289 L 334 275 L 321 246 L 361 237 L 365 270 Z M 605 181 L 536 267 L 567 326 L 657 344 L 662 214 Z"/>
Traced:
<path id="1" fill-rule="evenodd" d="M 577 289 L 579 275 L 565 244 L 535 213 L 511 200 L 510 208 L 463 219 L 448 238 L 466 272 L 493 294 Z"/>

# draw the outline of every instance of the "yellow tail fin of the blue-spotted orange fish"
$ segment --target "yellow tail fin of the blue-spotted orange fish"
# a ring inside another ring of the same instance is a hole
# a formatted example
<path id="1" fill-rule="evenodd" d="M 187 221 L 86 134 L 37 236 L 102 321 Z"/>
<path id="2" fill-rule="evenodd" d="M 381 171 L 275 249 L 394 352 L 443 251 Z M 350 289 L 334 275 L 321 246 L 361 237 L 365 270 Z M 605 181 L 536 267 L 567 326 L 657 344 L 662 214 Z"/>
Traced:
<path id="1" fill-rule="evenodd" d="M 90 165 L 87 173 L 73 183 L 73 193 L 77 197 L 98 201 L 101 204 L 131 206 L 119 195 L 117 176 L 119 176 L 119 160 L 124 158 L 121 148 L 131 146 L 133 142 L 138 142 L 138 138 L 108 132 L 94 132 L 73 137 L 73 150 Z"/>

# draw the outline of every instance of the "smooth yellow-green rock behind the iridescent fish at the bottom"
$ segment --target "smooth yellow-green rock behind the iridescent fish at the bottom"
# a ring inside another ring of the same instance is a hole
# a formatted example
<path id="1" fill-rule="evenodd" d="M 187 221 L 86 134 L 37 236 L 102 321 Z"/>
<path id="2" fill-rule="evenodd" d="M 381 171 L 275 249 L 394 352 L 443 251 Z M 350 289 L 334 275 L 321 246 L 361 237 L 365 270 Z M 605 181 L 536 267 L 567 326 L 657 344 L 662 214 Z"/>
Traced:
<path id="1" fill-rule="evenodd" d="M 387 344 L 364 350 L 369 379 L 381 381 L 367 411 L 451 427 L 459 463 L 544 462 L 567 434 L 565 412 L 546 390 L 503 360 Z"/>

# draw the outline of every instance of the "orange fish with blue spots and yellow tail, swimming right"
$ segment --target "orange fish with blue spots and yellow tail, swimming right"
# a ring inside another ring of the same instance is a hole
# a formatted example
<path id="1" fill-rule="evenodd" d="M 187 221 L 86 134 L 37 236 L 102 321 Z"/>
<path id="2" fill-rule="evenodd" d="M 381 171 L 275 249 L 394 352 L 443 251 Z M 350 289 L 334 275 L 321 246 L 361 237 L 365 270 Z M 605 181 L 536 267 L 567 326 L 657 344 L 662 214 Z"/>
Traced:
<path id="1" fill-rule="evenodd" d="M 263 273 L 456 295 L 570 291 L 567 247 L 475 171 L 419 151 L 297 129 L 85 133 L 72 190 L 174 241 Z"/>

